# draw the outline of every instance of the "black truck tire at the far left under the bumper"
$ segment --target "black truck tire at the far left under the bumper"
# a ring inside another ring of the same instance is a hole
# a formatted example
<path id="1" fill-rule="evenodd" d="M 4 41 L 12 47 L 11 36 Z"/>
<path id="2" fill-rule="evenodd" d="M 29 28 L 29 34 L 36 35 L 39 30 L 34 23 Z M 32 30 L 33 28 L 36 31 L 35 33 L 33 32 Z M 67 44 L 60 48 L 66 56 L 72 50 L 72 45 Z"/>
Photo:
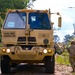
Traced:
<path id="1" fill-rule="evenodd" d="M 10 58 L 8 56 L 3 56 L 3 59 L 1 60 L 1 73 L 9 74 L 10 69 Z"/>

